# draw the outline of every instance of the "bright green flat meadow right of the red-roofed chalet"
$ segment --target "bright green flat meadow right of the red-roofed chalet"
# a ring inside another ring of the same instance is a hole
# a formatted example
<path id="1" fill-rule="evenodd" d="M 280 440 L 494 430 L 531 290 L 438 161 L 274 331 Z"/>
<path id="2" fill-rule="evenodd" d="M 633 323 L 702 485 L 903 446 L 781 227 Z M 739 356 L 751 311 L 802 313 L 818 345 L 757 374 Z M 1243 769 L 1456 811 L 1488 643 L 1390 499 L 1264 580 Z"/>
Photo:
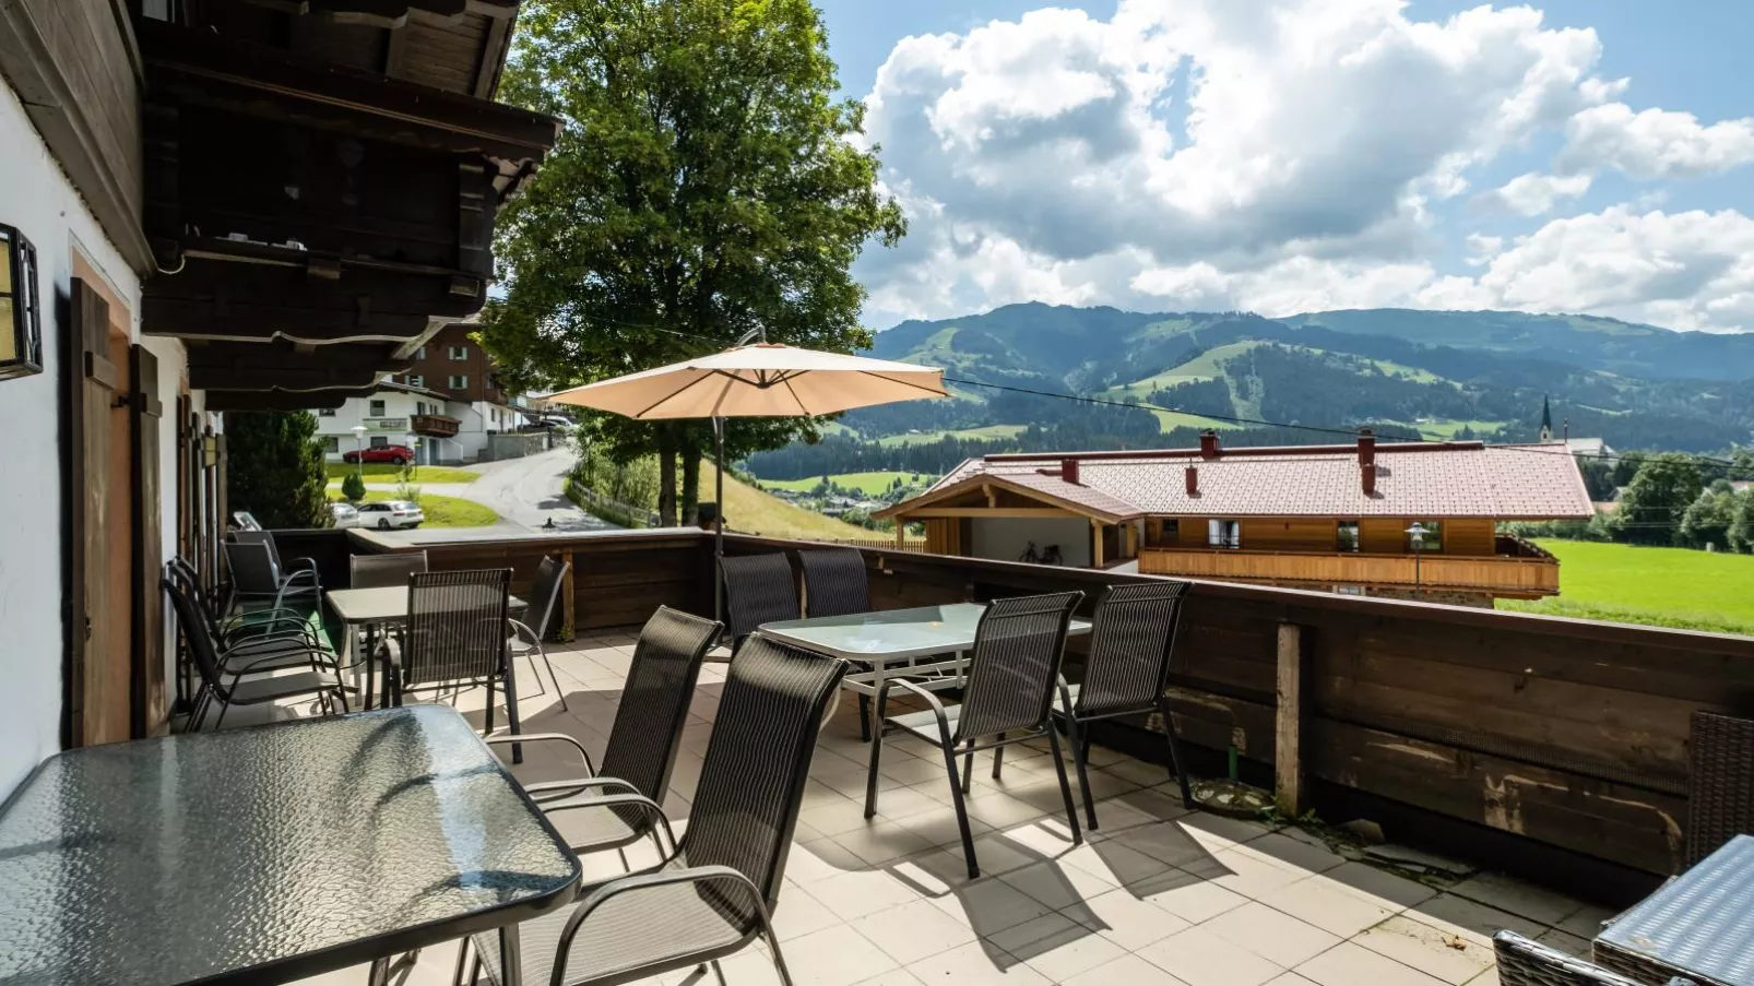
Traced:
<path id="1" fill-rule="evenodd" d="M 1591 540 L 1538 544 L 1559 558 L 1559 595 L 1500 600 L 1500 609 L 1754 635 L 1750 554 Z"/>

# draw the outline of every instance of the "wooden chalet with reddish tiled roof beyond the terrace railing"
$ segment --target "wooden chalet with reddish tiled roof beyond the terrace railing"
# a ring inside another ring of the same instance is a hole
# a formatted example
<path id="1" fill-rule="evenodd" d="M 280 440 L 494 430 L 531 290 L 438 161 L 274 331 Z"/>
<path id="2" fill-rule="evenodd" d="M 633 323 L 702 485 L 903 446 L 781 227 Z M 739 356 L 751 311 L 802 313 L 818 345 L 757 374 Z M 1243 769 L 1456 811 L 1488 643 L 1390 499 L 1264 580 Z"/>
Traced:
<path id="1" fill-rule="evenodd" d="M 1587 519 L 1563 442 L 1377 442 L 993 454 L 879 518 L 928 551 L 1491 605 L 1559 591 L 1500 521 Z"/>

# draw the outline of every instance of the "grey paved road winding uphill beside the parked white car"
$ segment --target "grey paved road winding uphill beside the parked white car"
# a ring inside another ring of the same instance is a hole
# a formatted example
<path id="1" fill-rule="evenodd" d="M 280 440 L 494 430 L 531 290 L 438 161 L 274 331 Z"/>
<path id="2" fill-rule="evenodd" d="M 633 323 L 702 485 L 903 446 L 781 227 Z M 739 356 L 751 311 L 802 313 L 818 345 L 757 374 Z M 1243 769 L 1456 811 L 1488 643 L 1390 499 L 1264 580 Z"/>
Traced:
<path id="1" fill-rule="evenodd" d="M 493 509 L 500 514 L 500 523 L 484 528 L 419 528 L 393 533 L 398 540 L 423 544 L 474 537 L 614 530 L 616 525 L 586 514 L 567 498 L 563 489 L 572 461 L 570 449 L 553 449 L 524 458 L 470 465 L 468 468 L 481 472 L 481 479 L 474 482 L 421 482 L 424 493 L 458 497 Z M 377 488 L 379 484 L 370 486 Z M 554 523 L 553 528 L 545 526 L 549 521 Z"/>

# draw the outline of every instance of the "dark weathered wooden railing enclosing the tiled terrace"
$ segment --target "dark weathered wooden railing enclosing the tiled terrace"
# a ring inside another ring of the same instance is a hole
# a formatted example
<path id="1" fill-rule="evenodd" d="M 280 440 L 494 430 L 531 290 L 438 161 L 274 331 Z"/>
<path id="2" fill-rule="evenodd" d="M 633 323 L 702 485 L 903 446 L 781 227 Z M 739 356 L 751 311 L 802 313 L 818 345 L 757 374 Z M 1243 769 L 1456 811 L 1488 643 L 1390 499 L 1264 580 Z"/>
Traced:
<path id="1" fill-rule="evenodd" d="M 372 532 L 288 532 L 282 554 L 407 551 Z M 317 544 L 321 540 L 323 544 Z M 810 544 L 726 535 L 726 551 Z M 644 623 L 658 605 L 712 611 L 712 539 L 698 530 L 593 532 L 421 546 L 433 568 L 572 561 L 572 628 Z M 1152 575 L 861 549 L 877 609 L 1082 589 Z M 333 554 L 333 558 L 330 558 Z M 1082 642 L 1073 642 L 1077 651 Z M 1079 658 L 1068 670 L 1079 674 Z M 1289 686 L 1289 691 L 1287 691 Z M 1280 704 L 1280 695 L 1301 695 Z M 1593 897 L 1636 898 L 1675 872 L 1687 823 L 1696 709 L 1745 714 L 1754 639 L 1522 612 L 1193 581 L 1170 698 L 1196 774 L 1286 779 L 1324 821 L 1368 818 L 1428 844 Z M 1161 758 L 1142 723 L 1098 742 Z"/>

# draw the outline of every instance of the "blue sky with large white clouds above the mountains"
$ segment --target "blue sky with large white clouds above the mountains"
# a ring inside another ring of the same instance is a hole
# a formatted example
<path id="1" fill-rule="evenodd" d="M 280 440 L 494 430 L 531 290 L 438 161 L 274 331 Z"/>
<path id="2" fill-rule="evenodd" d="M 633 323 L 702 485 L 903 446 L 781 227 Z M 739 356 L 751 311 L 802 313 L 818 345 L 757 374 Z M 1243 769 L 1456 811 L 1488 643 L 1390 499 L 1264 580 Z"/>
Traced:
<path id="1" fill-rule="evenodd" d="M 865 321 L 1587 312 L 1754 332 L 1747 0 L 817 0 L 902 246 Z"/>

